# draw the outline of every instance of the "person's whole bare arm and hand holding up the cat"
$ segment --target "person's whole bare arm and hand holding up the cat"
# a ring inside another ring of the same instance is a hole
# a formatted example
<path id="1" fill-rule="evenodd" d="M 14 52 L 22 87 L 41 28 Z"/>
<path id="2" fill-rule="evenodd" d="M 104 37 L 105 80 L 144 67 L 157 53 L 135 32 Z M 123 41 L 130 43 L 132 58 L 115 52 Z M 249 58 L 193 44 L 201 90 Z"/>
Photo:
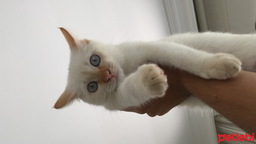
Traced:
<path id="1" fill-rule="evenodd" d="M 228 80 L 205 80 L 185 71 L 162 67 L 168 78 L 165 96 L 145 108 L 130 108 L 140 114 L 162 116 L 192 93 L 246 132 L 256 130 L 256 73 L 241 71 Z"/>

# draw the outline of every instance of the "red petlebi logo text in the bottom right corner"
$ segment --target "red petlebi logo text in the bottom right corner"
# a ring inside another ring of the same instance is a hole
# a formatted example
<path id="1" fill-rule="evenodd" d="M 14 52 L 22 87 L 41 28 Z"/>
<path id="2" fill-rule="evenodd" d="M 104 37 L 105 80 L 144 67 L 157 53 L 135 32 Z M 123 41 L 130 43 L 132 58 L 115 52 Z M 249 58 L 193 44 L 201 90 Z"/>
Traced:
<path id="1" fill-rule="evenodd" d="M 236 138 L 235 138 L 236 137 Z M 218 139 L 219 139 L 219 143 L 220 141 L 224 141 L 224 140 L 227 140 L 227 141 L 244 141 L 244 140 L 247 140 L 247 141 L 254 141 L 254 132 L 252 132 L 252 135 L 250 134 L 247 134 L 245 133 L 244 134 L 241 134 L 241 135 L 238 135 L 238 133 L 234 134 L 232 133 L 232 136 L 230 134 L 218 134 Z"/>

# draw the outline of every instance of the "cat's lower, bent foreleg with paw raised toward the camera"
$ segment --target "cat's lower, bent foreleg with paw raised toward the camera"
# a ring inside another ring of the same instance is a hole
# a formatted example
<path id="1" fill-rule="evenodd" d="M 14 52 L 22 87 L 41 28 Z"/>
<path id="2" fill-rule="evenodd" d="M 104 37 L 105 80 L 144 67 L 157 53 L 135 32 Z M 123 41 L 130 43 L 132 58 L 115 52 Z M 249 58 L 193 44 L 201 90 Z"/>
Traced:
<path id="1" fill-rule="evenodd" d="M 167 78 L 155 64 L 144 64 L 124 79 L 117 88 L 116 101 L 122 110 L 131 106 L 140 106 L 151 98 L 164 96 Z"/>

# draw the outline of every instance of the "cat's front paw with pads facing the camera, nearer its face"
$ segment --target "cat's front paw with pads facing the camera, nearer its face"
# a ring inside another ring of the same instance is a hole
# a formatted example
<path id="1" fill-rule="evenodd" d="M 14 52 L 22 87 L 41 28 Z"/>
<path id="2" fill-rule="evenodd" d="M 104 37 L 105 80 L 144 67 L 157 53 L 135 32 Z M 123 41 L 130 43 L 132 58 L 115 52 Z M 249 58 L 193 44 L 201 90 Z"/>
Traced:
<path id="1" fill-rule="evenodd" d="M 155 64 L 145 64 L 138 68 L 142 84 L 153 96 L 163 96 L 167 89 L 167 78 L 164 72 Z"/>

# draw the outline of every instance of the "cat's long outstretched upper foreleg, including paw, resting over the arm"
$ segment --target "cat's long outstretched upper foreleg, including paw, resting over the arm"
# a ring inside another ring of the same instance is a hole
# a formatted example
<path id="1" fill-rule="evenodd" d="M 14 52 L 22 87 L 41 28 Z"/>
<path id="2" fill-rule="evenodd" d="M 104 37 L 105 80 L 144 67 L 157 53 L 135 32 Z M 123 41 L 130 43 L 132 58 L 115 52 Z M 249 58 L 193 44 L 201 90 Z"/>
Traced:
<path id="1" fill-rule="evenodd" d="M 163 66 L 186 70 L 206 79 L 227 79 L 241 69 L 241 62 L 235 56 L 224 53 L 208 53 L 173 42 L 137 42 L 127 45 L 134 61 L 151 61 Z M 133 49 L 133 50 L 131 50 Z"/>

